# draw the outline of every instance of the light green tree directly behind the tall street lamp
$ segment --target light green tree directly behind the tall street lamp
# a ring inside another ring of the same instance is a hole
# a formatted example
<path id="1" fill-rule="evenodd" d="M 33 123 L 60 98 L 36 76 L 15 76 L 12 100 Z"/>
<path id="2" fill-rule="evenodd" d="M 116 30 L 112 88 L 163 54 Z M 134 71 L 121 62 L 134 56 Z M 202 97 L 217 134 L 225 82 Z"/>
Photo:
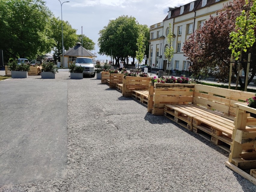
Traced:
<path id="1" fill-rule="evenodd" d="M 53 48 L 54 57 L 58 58 L 62 54 L 62 31 L 61 31 L 61 19 L 59 17 L 52 17 L 50 20 L 51 38 L 55 41 L 55 47 Z M 68 21 L 63 21 L 63 44 L 64 49 L 69 50 L 75 46 L 78 41 L 77 29 L 73 29 Z"/>

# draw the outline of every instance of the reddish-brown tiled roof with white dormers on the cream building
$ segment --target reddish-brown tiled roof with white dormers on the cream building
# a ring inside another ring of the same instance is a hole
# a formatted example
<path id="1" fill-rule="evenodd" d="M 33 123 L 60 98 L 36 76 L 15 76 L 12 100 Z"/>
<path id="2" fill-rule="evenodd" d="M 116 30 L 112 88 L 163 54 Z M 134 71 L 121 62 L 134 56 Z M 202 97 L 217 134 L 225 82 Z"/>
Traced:
<path id="1" fill-rule="evenodd" d="M 219 2 L 221 2 L 221 1 L 225 1 L 225 0 L 220 0 Z M 205 7 L 210 6 L 214 3 L 218 3 L 218 2 L 216 2 L 216 0 L 207 0 L 206 5 L 204 7 L 202 7 L 202 2 L 203 2 L 203 0 L 194 1 L 194 8 L 193 8 L 192 11 L 197 11 L 201 8 L 205 8 Z M 188 3 L 186 5 L 182 5 L 182 6 L 184 6 L 184 12 L 181 15 L 184 15 L 184 14 L 187 14 L 187 13 L 191 12 L 191 11 L 189 11 L 190 3 Z M 180 16 L 180 10 L 181 10 L 181 6 L 178 7 L 178 8 L 174 8 L 172 10 L 172 14 L 171 14 L 171 17 L 169 19 Z M 165 19 L 163 21 L 165 21 L 165 20 L 168 20 L 168 15 L 165 17 Z"/>

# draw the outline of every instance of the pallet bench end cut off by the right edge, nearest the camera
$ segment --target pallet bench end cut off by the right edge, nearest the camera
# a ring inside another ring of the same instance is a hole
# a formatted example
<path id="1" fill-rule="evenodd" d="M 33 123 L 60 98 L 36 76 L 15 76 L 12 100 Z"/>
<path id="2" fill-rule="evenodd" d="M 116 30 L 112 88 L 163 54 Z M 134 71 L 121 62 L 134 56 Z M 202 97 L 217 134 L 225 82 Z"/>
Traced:
<path id="1" fill-rule="evenodd" d="M 232 147 L 229 160 L 225 163 L 233 171 L 256 185 L 256 119 L 249 113 L 256 114 L 256 109 L 246 106 L 247 103 L 235 103 L 236 119 L 232 134 Z M 251 169 L 250 174 L 244 169 Z"/>

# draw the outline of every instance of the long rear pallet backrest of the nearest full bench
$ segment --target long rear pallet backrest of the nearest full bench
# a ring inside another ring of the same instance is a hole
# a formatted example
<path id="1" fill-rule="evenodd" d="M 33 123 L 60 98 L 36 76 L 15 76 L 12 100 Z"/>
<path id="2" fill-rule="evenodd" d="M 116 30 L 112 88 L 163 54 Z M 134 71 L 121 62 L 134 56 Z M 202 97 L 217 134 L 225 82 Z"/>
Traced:
<path id="1" fill-rule="evenodd" d="M 235 117 L 234 103 L 245 102 L 252 96 L 254 94 L 249 92 L 195 84 L 193 103 Z"/>

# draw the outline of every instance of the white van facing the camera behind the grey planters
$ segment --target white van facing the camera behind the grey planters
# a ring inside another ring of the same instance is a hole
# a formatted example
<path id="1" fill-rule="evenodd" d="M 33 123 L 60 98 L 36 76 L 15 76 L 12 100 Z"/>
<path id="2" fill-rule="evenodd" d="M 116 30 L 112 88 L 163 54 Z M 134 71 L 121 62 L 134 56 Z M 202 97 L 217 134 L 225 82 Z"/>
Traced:
<path id="1" fill-rule="evenodd" d="M 90 75 L 91 77 L 95 77 L 95 71 L 93 64 L 93 59 L 89 57 L 77 57 L 75 60 L 75 65 L 84 68 L 84 75 Z"/>

